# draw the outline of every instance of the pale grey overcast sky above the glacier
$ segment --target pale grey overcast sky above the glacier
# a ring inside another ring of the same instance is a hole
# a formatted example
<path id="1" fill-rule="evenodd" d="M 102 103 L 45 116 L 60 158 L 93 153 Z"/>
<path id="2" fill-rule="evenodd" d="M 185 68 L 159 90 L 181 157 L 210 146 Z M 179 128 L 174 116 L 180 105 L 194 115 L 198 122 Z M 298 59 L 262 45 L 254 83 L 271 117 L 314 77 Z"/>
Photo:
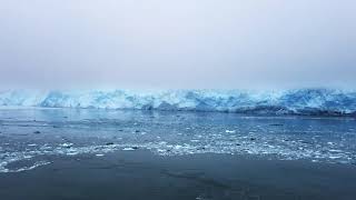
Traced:
<path id="1" fill-rule="evenodd" d="M 355 0 L 0 0 L 1 88 L 356 88 Z"/>

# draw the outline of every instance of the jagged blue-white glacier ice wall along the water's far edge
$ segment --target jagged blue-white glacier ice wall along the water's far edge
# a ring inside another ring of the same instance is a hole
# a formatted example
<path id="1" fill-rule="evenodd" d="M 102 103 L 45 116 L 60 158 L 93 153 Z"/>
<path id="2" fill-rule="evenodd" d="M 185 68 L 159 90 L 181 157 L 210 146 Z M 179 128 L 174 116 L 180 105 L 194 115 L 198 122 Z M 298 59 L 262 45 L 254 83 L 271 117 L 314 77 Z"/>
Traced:
<path id="1" fill-rule="evenodd" d="M 356 91 L 335 89 L 2 91 L 0 106 L 356 116 Z"/>

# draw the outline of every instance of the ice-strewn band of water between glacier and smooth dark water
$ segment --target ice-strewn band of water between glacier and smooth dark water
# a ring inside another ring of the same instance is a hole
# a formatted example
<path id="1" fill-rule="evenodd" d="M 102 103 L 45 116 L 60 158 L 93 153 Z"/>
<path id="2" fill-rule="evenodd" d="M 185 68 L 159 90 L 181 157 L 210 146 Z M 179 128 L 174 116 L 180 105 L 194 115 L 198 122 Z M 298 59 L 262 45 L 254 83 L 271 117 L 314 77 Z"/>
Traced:
<path id="1" fill-rule="evenodd" d="M 139 150 L 162 158 L 214 153 L 354 166 L 356 120 L 152 110 L 0 110 L 1 173 L 50 166 L 57 157 L 100 158 Z"/>

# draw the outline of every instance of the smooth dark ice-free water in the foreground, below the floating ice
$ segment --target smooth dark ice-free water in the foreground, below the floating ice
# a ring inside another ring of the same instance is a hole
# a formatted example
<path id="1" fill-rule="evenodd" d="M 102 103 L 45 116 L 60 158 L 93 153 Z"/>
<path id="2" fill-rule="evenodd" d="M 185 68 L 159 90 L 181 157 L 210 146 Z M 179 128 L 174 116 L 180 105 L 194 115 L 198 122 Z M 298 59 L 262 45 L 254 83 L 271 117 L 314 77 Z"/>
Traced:
<path id="1" fill-rule="evenodd" d="M 348 199 L 356 169 L 345 164 L 228 154 L 159 157 L 118 151 L 52 158 L 31 171 L 0 174 L 1 199 Z"/>

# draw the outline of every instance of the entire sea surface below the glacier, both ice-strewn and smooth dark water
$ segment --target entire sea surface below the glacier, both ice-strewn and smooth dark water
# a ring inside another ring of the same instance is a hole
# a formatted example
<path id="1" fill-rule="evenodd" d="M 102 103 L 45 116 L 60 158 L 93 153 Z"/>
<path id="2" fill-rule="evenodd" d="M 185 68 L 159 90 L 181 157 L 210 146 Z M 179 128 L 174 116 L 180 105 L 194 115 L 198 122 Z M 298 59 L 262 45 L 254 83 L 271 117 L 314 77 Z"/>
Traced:
<path id="1" fill-rule="evenodd" d="M 353 118 L 0 110 L 1 199 L 355 199 Z"/>

